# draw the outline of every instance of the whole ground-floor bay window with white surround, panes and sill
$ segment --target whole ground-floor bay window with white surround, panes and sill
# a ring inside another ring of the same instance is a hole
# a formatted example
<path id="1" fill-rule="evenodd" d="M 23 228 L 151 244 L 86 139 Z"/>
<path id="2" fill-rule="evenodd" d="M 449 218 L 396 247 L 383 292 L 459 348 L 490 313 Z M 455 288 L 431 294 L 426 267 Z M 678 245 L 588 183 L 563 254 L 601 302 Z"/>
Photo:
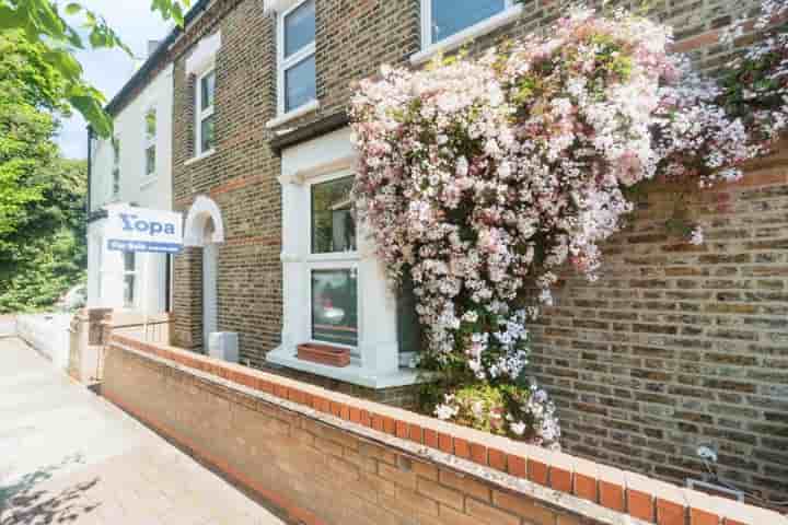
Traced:
<path id="1" fill-rule="evenodd" d="M 343 128 L 282 151 L 282 336 L 266 359 L 369 388 L 413 384 L 413 301 L 392 290 L 356 221 L 355 162 Z M 299 359 L 316 343 L 346 348 L 347 366 Z"/>

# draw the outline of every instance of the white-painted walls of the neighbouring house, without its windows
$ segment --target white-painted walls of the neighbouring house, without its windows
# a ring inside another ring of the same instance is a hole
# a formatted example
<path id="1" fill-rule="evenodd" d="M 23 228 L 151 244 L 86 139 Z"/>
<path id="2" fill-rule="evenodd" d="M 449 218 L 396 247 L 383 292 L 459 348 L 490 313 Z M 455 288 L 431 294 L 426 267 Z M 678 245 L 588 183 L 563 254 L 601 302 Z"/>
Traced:
<path id="1" fill-rule="evenodd" d="M 115 118 L 115 137 L 120 143 L 120 188 L 113 196 L 113 147 L 109 140 L 93 144 L 91 210 L 113 203 L 142 208 L 172 209 L 172 114 L 173 68 L 167 66 Z M 146 114 L 157 114 L 155 172 L 146 174 Z M 106 247 L 105 220 L 88 226 L 88 306 L 124 307 L 124 260 L 120 252 Z M 142 268 L 148 258 L 148 290 L 142 290 Z M 166 306 L 166 257 L 137 254 L 134 310 L 162 313 Z"/>

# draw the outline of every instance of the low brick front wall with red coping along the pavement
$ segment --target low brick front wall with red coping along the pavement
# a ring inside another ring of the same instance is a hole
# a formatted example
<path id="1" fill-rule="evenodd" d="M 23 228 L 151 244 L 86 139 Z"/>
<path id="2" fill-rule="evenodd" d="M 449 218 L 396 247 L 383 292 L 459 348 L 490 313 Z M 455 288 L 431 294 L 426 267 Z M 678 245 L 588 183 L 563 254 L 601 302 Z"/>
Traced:
<path id="1" fill-rule="evenodd" d="M 305 524 L 788 525 L 776 513 L 113 336 L 102 393 Z"/>

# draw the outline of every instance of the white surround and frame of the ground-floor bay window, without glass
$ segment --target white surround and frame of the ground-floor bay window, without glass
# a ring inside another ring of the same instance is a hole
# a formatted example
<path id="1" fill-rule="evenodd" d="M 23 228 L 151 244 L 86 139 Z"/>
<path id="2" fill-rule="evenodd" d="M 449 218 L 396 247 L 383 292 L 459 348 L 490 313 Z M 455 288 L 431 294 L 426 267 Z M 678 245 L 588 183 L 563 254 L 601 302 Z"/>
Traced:
<path id="1" fill-rule="evenodd" d="M 282 152 L 282 343 L 268 361 L 371 388 L 416 382 L 399 366 L 396 298 L 384 268 L 359 225 L 358 250 L 311 254 L 311 186 L 352 174 L 350 130 L 344 128 Z M 358 347 L 351 364 L 327 366 L 297 359 L 297 346 L 311 341 L 311 271 L 341 265 L 358 271 Z"/>

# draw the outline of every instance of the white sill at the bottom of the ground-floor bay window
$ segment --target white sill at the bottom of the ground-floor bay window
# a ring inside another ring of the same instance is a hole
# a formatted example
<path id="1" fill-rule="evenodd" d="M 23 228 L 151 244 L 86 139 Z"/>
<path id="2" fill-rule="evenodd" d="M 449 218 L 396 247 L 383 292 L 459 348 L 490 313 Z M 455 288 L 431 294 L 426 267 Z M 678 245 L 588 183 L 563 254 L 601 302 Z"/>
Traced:
<path id="1" fill-rule="evenodd" d="M 375 375 L 372 371 L 359 364 L 357 359 L 352 359 L 350 364 L 344 368 L 303 361 L 296 357 L 294 348 L 286 348 L 283 345 L 268 352 L 266 361 L 288 369 L 375 389 L 415 385 L 416 383 L 425 381 L 425 378 L 419 375 L 419 371 L 415 369 L 399 369 L 399 371 L 394 374 L 384 376 Z"/>

